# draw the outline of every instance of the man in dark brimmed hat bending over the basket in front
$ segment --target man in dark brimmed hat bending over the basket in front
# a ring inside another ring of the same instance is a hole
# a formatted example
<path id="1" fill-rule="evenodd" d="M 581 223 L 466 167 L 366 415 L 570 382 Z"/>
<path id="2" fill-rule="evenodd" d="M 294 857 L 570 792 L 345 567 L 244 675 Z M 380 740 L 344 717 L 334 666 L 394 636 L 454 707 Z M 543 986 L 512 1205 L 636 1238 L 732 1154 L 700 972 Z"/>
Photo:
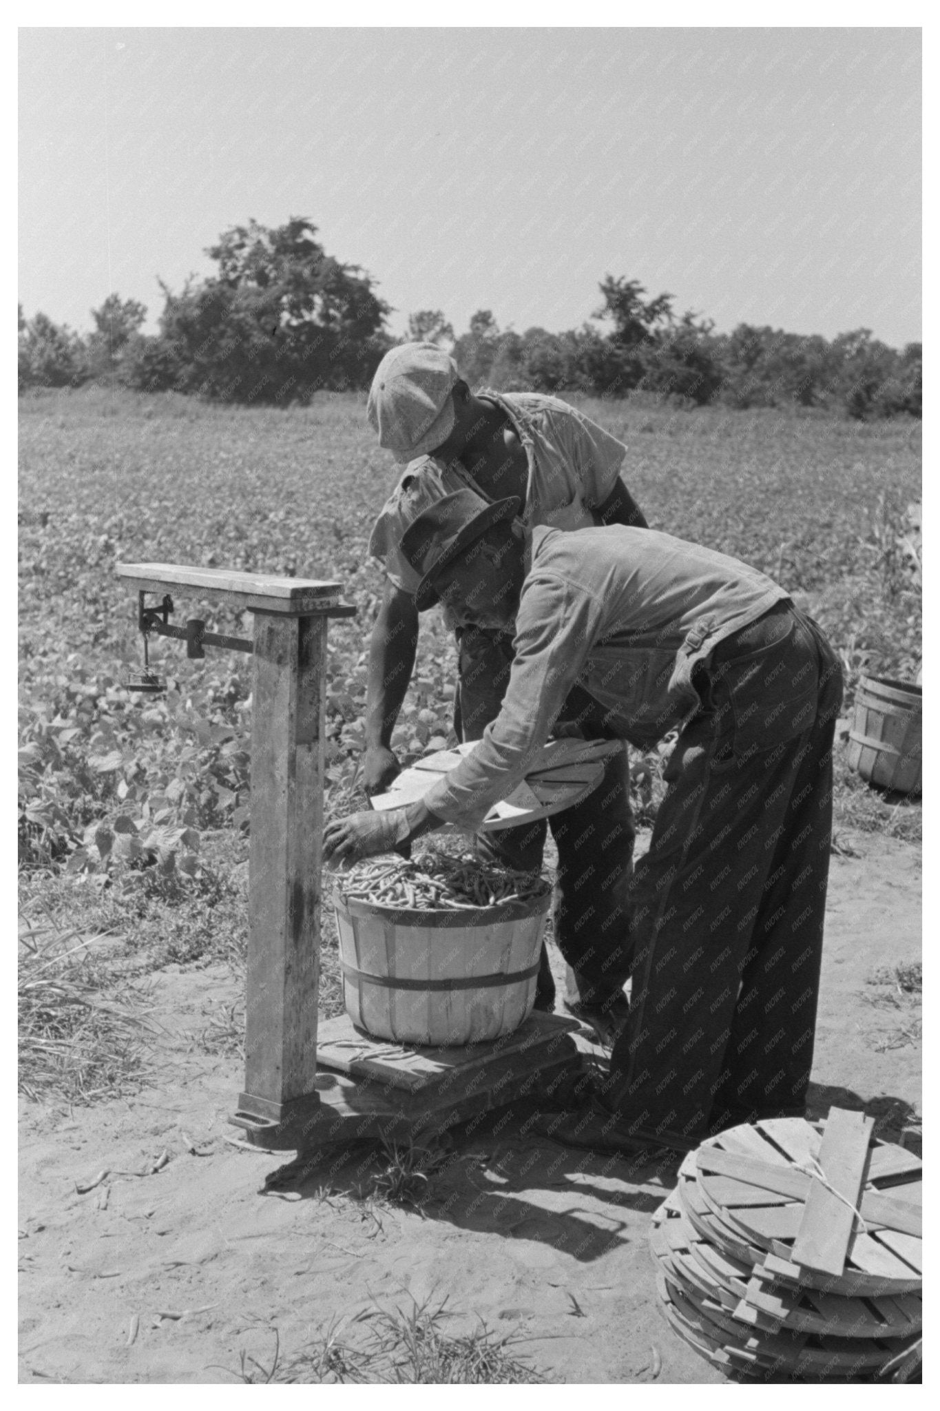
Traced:
<path id="1" fill-rule="evenodd" d="M 514 499 L 462 490 L 402 549 L 424 611 L 514 622 L 499 717 L 406 809 L 324 832 L 352 859 L 505 797 L 574 686 L 603 731 L 648 748 L 679 731 L 631 892 L 633 989 L 610 1075 L 558 1134 L 576 1144 L 696 1146 L 737 1122 L 803 1112 L 831 831 L 839 659 L 755 569 L 651 529 L 536 526 Z M 483 550 L 488 550 L 486 553 Z"/>

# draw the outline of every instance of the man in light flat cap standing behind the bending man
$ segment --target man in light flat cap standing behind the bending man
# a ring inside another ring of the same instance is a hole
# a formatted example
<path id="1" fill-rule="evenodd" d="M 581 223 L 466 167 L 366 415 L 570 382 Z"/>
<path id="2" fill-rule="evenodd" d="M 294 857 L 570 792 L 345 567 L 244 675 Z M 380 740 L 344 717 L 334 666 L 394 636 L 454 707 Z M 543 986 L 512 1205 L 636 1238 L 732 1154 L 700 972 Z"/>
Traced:
<path id="1" fill-rule="evenodd" d="M 516 497 L 521 526 L 644 526 L 645 519 L 620 478 L 621 442 L 552 396 L 474 395 L 454 360 L 435 344 L 409 343 L 386 354 L 372 381 L 368 415 L 379 443 L 407 463 L 369 543 L 388 579 L 369 658 L 364 783 L 372 794 L 399 772 L 390 737 L 419 632 L 419 576 L 400 543 L 416 515 L 469 487 L 486 501 Z M 454 725 L 461 739 L 479 739 L 499 714 L 506 691 L 512 628 L 493 629 L 462 621 L 455 612 L 447 615 L 458 641 Z M 569 714 L 576 704 L 575 694 Z M 592 729 L 590 713 L 582 727 Z M 619 1009 L 623 1017 L 621 986 L 629 971 L 624 917 L 634 835 L 629 785 L 624 751 L 607 762 L 596 797 L 552 821 L 558 845 L 555 938 L 569 967 L 568 1003 L 602 1027 L 612 1010 Z M 536 869 L 544 840 L 545 824 L 540 823 L 481 840 L 481 847 L 513 866 Z M 537 1003 L 550 1009 L 552 998 L 543 951 Z"/>

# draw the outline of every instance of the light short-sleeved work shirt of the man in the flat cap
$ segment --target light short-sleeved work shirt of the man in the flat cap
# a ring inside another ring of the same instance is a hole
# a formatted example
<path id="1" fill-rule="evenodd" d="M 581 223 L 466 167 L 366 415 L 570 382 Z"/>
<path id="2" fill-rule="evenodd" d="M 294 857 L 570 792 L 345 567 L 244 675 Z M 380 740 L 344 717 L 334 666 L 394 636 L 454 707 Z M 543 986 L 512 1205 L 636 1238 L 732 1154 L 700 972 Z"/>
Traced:
<path id="1" fill-rule="evenodd" d="M 576 408 L 540 392 L 482 391 L 509 418 L 528 461 L 521 519 L 526 526 L 585 529 L 617 483 L 627 447 Z M 485 494 L 461 461 L 420 456 L 409 463 L 372 529 L 369 553 L 385 564 L 386 577 L 414 594 L 421 576 L 402 553 L 402 535 L 428 505 L 469 485 Z"/>

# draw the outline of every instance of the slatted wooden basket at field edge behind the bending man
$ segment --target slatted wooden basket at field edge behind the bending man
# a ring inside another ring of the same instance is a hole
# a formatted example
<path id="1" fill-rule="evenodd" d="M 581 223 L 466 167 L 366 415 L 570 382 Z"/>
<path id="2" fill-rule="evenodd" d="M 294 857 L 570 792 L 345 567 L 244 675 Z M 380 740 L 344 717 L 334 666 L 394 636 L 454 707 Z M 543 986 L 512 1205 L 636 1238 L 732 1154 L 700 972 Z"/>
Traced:
<path id="1" fill-rule="evenodd" d="M 848 768 L 882 789 L 920 793 L 922 729 L 920 686 L 862 676 L 848 731 Z"/>

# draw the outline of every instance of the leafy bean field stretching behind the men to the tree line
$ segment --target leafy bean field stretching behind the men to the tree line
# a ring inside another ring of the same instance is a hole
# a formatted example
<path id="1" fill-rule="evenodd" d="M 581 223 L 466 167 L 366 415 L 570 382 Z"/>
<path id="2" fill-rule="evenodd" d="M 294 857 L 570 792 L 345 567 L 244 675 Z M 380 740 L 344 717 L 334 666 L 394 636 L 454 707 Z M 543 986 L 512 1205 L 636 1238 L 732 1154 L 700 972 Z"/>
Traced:
<path id="1" fill-rule="evenodd" d="M 650 523 L 737 555 L 829 632 L 848 683 L 920 665 L 920 423 L 772 411 L 581 404 L 629 447 L 624 478 Z M 244 656 L 152 639 L 168 677 L 130 694 L 137 602 L 114 564 L 172 562 L 335 579 L 358 608 L 330 624 L 327 813 L 362 807 L 366 646 L 382 593 L 369 529 L 396 468 L 361 396 L 310 408 L 223 408 L 106 388 L 20 402 L 20 813 L 30 906 L 111 927 L 180 962 L 244 952 L 251 677 Z M 176 621 L 248 632 L 211 601 Z M 423 618 L 393 745 L 402 763 L 452 739 L 454 646 Z M 844 732 L 843 732 L 844 735 Z M 916 837 L 920 810 L 885 801 L 837 762 L 844 824 Z M 660 756 L 634 769 L 640 823 Z M 837 831 L 839 840 L 839 831 Z M 327 919 L 326 944 L 330 950 Z M 328 969 L 328 967 L 327 967 Z M 338 991 L 324 986 L 327 1010 Z"/>

